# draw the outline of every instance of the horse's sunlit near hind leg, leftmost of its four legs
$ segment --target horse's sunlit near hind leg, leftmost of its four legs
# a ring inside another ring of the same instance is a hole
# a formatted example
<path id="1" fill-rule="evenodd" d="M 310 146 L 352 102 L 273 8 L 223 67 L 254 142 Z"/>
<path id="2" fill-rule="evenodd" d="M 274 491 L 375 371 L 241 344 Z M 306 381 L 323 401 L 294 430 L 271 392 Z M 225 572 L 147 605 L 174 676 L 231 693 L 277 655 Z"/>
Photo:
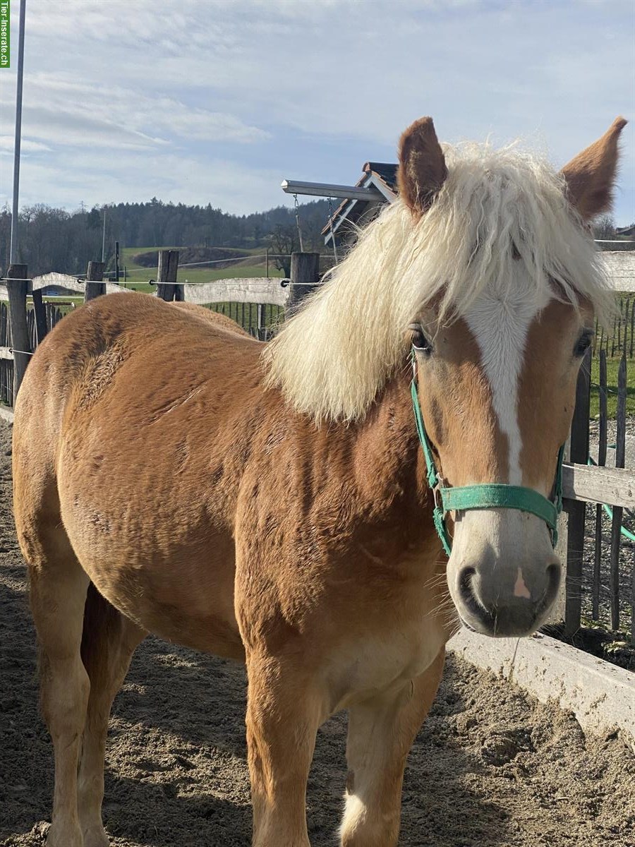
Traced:
<path id="1" fill-rule="evenodd" d="M 17 517 L 17 515 L 16 515 Z M 32 530 L 32 531 L 30 531 Z M 18 521 L 30 570 L 30 606 L 40 644 L 41 711 L 55 754 L 48 847 L 83 847 L 77 817 L 77 761 L 86 720 L 88 675 L 80 658 L 89 579 L 59 525 Z"/>

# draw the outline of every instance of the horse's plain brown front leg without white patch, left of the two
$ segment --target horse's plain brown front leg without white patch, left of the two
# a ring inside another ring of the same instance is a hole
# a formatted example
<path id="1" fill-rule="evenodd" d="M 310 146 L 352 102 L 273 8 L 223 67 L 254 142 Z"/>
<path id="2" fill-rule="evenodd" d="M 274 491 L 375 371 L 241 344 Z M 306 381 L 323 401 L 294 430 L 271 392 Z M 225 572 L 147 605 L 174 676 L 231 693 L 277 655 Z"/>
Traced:
<path id="1" fill-rule="evenodd" d="M 253 847 L 309 847 L 306 780 L 320 698 L 298 659 L 248 651 L 247 679 Z"/>

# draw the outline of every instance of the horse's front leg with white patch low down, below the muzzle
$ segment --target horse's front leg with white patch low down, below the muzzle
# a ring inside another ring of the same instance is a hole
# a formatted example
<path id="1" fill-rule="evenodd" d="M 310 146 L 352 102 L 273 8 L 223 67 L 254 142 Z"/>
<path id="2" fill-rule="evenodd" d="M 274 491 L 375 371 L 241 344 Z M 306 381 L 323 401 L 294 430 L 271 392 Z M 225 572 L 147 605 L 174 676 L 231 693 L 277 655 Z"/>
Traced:
<path id="1" fill-rule="evenodd" d="M 343 847 L 394 847 L 399 838 L 406 756 L 432 705 L 445 650 L 399 690 L 349 709 Z"/>

